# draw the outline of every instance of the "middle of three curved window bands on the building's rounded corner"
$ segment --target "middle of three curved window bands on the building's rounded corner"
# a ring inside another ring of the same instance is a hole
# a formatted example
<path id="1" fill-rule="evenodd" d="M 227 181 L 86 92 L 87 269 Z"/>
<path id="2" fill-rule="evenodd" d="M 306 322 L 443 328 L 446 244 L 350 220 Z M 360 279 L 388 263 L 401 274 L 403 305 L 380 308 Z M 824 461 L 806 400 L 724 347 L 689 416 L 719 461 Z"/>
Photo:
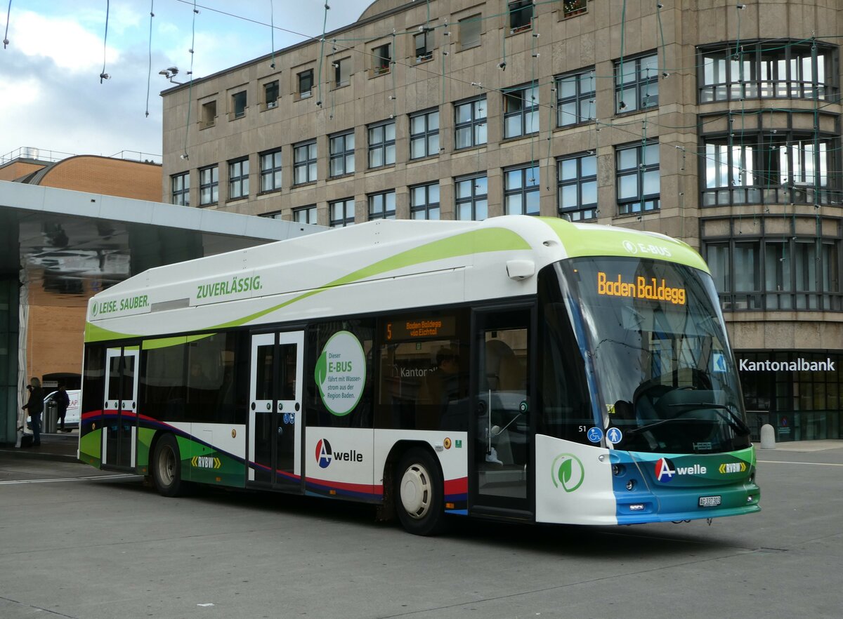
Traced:
<path id="1" fill-rule="evenodd" d="M 784 129 L 705 137 L 701 205 L 838 203 L 837 144 Z"/>

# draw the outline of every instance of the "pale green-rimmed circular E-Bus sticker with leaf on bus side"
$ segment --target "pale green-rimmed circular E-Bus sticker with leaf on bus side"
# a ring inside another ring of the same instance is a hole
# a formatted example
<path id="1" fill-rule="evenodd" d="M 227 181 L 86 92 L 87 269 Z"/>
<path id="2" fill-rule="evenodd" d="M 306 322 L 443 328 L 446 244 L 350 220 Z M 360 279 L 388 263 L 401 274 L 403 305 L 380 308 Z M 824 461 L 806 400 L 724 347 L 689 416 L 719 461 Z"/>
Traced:
<path id="1" fill-rule="evenodd" d="M 333 334 L 316 360 L 314 379 L 331 414 L 351 413 L 366 383 L 366 355 L 360 340 L 348 331 Z"/>

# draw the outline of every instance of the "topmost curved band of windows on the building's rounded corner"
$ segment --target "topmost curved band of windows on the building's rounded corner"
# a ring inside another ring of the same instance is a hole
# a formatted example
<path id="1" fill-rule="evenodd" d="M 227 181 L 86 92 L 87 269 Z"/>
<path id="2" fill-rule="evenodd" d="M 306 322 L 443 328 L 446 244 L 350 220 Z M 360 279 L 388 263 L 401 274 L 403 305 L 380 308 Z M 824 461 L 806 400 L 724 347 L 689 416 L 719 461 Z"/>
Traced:
<path id="1" fill-rule="evenodd" d="M 814 58 L 814 55 L 816 57 Z M 699 53 L 700 103 L 743 99 L 836 100 L 837 50 L 831 45 L 778 40 L 741 41 L 739 49 Z"/>

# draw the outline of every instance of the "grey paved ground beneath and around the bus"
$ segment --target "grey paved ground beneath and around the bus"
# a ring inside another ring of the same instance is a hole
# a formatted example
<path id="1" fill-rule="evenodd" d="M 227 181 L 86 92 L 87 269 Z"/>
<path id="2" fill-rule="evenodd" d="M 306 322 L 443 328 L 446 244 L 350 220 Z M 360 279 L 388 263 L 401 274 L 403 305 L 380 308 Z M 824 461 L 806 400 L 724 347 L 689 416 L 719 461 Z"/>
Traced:
<path id="1" fill-rule="evenodd" d="M 798 451 L 797 451 L 798 450 Z M 586 528 L 204 492 L 0 451 L 0 617 L 839 617 L 843 441 L 759 451 L 759 515 Z"/>

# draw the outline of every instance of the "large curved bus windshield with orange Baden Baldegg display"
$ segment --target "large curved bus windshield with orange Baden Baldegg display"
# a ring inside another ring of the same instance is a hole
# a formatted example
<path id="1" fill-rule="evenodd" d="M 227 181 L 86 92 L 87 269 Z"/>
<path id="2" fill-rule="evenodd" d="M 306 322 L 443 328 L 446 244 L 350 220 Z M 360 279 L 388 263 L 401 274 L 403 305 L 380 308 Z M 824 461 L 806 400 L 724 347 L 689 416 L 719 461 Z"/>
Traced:
<path id="1" fill-rule="evenodd" d="M 709 275 L 637 258 L 572 259 L 563 271 L 578 300 L 572 319 L 615 448 L 679 454 L 749 446 L 738 371 Z"/>

